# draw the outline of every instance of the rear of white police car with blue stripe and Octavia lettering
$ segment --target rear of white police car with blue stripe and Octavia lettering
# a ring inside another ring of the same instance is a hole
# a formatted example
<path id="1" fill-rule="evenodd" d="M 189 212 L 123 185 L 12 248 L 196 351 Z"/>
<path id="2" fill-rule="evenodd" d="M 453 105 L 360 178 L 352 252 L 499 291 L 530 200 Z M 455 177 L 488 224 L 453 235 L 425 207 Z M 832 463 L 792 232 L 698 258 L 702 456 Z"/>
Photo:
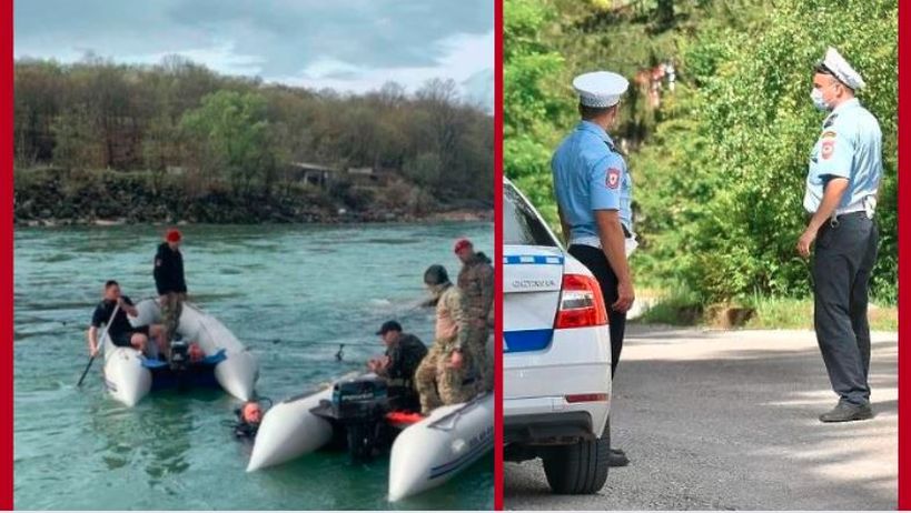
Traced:
<path id="1" fill-rule="evenodd" d="M 556 493 L 595 493 L 611 444 L 604 299 L 508 180 L 503 205 L 504 455 L 541 457 Z"/>

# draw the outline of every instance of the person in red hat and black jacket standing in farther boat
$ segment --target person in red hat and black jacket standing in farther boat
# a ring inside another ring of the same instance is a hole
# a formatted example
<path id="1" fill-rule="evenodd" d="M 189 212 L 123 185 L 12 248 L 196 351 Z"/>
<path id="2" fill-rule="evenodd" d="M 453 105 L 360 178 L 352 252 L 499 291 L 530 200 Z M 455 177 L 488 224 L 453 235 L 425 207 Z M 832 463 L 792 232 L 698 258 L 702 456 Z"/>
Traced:
<path id="1" fill-rule="evenodd" d="M 170 346 L 170 341 L 177 332 L 180 323 L 180 312 L 184 301 L 187 300 L 187 281 L 184 278 L 184 255 L 180 253 L 180 244 L 184 235 L 177 229 L 170 229 L 165 234 L 165 242 L 158 245 L 155 255 L 155 286 L 158 290 L 161 305 L 161 323 L 165 325 L 165 341 Z M 168 348 L 164 349 L 165 355 L 169 356 Z"/>

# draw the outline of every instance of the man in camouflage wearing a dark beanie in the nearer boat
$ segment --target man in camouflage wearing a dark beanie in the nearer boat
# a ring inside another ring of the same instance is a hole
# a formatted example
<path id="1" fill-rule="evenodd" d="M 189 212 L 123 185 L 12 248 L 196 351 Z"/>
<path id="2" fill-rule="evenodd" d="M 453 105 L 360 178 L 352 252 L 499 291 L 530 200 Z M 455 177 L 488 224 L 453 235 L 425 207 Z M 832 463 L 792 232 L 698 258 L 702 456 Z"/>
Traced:
<path id="1" fill-rule="evenodd" d="M 438 406 L 468 401 L 475 385 L 462 293 L 453 286 L 443 265 L 430 265 L 424 273 L 424 283 L 438 298 L 434 345 L 415 373 L 420 413 L 428 415 Z"/>

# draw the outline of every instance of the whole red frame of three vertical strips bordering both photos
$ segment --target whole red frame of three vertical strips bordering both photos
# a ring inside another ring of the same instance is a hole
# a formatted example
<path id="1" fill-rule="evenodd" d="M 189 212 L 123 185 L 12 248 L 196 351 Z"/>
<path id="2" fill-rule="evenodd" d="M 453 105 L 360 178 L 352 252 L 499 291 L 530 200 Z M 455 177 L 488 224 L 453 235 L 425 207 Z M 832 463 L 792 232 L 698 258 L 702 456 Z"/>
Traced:
<path id="1" fill-rule="evenodd" d="M 13 202 L 13 145 L 12 141 L 12 113 L 13 113 L 13 3 L 12 0 L 0 0 L 2 6 L 2 27 L 0 27 L 0 53 L 2 53 L 2 86 L 0 86 L 0 99 L 2 99 L 2 122 L 0 122 L 0 140 L 7 141 L 0 144 L 0 159 L 3 173 L 3 187 L 0 187 L 0 203 L 7 205 L 0 209 L 0 238 L 2 238 L 2 249 L 0 259 L 3 263 L 3 273 L 0 276 L 0 294 L 10 299 L 6 302 L 0 312 L 0 326 L 4 326 L 6 340 L 9 342 L 4 348 L 2 360 L 4 361 L 2 372 L 2 383 L 0 386 L 0 424 L 7 429 L 0 440 L 0 510 L 12 510 L 13 507 L 13 238 L 12 238 L 12 202 Z M 911 30 L 911 7 L 907 0 L 902 0 L 899 9 L 899 33 L 908 33 Z M 494 132 L 496 134 L 494 147 L 494 194 L 495 219 L 499 220 L 503 209 L 503 195 L 498 192 L 503 183 L 503 2 L 495 0 L 495 68 L 494 68 Z M 908 62 L 909 37 L 899 37 L 899 68 Z M 911 130 L 903 123 L 903 119 L 909 118 L 911 109 L 911 94 L 908 87 L 899 84 L 899 141 L 909 141 Z M 900 174 L 911 172 L 903 159 L 899 159 Z M 902 172 L 903 171 L 903 172 Z M 911 178 L 899 180 L 899 198 L 911 198 Z M 911 241 L 911 204 L 908 201 L 899 201 L 899 255 L 900 262 L 908 260 L 911 254 L 909 241 Z M 503 232 L 501 223 L 495 223 L 494 243 L 499 249 L 503 245 Z M 497 298 L 502 296 L 503 265 L 502 258 L 496 264 L 496 292 Z M 902 273 L 899 270 L 899 312 L 900 318 L 911 315 L 911 300 L 908 299 L 909 286 L 911 286 L 911 273 Z M 503 333 L 503 304 L 496 301 L 496 339 L 499 341 Z M 899 339 L 904 339 L 909 333 L 909 328 L 904 322 L 899 323 Z M 503 348 L 498 342 L 494 344 L 496 362 L 496 401 L 495 401 L 495 467 L 494 467 L 494 507 L 503 509 Z M 899 376 L 909 373 L 911 369 L 911 350 L 899 352 Z M 899 396 L 911 396 L 911 381 L 899 380 Z M 899 402 L 899 509 L 911 510 L 911 420 L 909 420 L 909 406 L 904 402 Z M 904 443 L 903 443 L 904 442 Z"/>

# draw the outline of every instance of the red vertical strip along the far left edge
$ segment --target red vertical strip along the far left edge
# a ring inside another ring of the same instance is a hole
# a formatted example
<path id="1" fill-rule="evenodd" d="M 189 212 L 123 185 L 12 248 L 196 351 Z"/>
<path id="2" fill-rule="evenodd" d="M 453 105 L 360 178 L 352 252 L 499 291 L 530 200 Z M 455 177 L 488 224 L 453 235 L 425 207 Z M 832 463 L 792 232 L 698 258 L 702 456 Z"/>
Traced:
<path id="1" fill-rule="evenodd" d="M 13 469 L 13 452 L 12 452 L 12 433 L 13 433 L 13 332 L 12 332 L 12 0 L 0 0 L 2 6 L 2 14 L 0 19 L 3 20 L 2 28 L 0 28 L 0 54 L 2 54 L 2 74 L 3 84 L 0 86 L 0 98 L 2 98 L 2 122 L 0 122 L 0 170 L 3 172 L 3 184 L 0 187 L 0 204 L 4 207 L 0 209 L 0 225 L 2 225 L 2 249 L 0 249 L 0 258 L 3 261 L 3 274 L 0 278 L 0 294 L 9 301 L 3 302 L 2 314 L 0 314 L 0 326 L 3 326 L 3 339 L 8 345 L 3 348 L 2 360 L 4 361 L 0 375 L 2 375 L 2 386 L 0 386 L 0 395 L 2 395 L 2 403 L 0 403 L 0 424 L 3 429 L 2 442 L 0 442 L 0 509 L 12 510 L 12 469 Z"/>

